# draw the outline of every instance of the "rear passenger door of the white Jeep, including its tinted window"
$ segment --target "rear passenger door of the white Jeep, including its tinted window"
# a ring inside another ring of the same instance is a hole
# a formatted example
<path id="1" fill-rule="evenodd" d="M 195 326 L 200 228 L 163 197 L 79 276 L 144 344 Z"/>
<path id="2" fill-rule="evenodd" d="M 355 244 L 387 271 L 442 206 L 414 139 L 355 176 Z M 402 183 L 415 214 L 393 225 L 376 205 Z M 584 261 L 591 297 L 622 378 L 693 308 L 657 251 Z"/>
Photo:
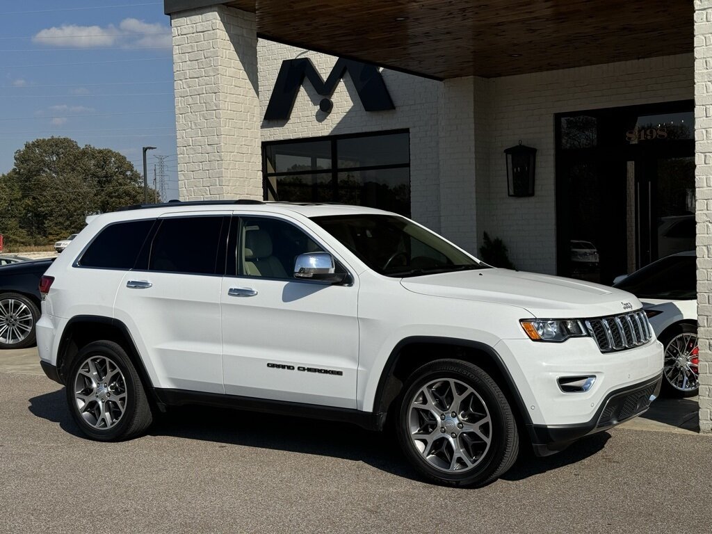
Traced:
<path id="1" fill-rule="evenodd" d="M 116 318 L 138 334 L 157 387 L 224 393 L 220 291 L 229 224 L 220 212 L 159 218 L 144 265 L 122 280 Z"/>

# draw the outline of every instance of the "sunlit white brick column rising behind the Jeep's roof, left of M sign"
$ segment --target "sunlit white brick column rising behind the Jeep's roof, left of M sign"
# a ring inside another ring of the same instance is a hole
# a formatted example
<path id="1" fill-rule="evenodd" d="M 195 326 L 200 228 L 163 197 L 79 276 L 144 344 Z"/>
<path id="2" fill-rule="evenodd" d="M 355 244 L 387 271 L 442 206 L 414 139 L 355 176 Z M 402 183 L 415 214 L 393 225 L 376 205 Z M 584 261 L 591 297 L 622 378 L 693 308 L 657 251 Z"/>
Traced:
<path id="1" fill-rule="evenodd" d="M 171 16 L 181 200 L 262 199 L 254 14 Z"/>

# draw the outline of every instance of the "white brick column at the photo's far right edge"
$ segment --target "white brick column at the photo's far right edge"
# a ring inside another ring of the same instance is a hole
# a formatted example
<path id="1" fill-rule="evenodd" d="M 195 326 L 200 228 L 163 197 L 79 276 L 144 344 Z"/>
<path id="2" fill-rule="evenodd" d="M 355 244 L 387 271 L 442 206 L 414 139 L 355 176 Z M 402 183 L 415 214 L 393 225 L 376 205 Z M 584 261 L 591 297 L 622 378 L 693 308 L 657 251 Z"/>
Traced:
<path id="1" fill-rule="evenodd" d="M 695 187 L 700 430 L 712 432 L 712 0 L 695 0 Z"/>

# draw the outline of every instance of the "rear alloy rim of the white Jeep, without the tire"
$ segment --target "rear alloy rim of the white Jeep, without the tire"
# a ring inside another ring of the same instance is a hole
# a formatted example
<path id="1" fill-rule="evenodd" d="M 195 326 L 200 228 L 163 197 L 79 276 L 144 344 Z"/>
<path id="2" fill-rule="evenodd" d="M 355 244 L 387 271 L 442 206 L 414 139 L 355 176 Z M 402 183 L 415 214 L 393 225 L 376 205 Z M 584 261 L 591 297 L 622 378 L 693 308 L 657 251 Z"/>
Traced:
<path id="1" fill-rule="evenodd" d="M 117 424 L 126 409 L 126 382 L 116 362 L 106 356 L 90 356 L 74 380 L 77 411 L 95 429 Z"/>

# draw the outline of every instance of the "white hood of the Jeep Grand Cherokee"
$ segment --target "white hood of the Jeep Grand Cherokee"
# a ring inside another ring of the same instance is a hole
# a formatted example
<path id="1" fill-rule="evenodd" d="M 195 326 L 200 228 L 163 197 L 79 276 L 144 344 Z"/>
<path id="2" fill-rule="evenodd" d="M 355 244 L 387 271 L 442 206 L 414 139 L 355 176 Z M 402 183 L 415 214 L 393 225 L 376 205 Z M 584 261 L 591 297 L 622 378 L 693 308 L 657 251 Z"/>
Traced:
<path id="1" fill-rule="evenodd" d="M 401 284 L 422 295 L 518 306 L 538 318 L 600 317 L 642 307 L 634 295 L 608 286 L 498 268 L 403 278 Z"/>

